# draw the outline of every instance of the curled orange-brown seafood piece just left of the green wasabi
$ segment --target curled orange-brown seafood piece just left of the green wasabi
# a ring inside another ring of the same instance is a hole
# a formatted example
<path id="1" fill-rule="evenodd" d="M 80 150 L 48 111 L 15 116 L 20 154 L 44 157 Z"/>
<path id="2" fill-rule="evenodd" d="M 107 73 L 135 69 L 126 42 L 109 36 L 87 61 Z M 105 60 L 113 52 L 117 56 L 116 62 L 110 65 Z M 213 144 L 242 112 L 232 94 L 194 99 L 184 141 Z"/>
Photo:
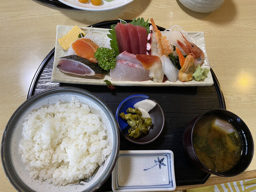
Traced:
<path id="1" fill-rule="evenodd" d="M 196 64 L 194 63 L 195 56 L 193 53 L 190 53 L 188 56 L 186 56 L 184 65 L 179 71 L 178 77 L 180 81 L 186 82 L 193 78 L 193 73 L 196 70 Z"/>

